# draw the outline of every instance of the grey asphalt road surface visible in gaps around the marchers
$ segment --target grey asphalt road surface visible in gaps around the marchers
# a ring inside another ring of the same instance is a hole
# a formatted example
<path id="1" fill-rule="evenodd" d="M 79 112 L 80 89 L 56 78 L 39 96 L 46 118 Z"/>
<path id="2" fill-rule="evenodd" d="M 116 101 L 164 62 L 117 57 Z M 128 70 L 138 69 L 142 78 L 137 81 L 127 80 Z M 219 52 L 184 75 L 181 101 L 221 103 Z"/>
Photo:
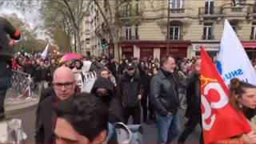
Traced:
<path id="1" fill-rule="evenodd" d="M 181 120 L 181 126 L 182 130 L 184 127 L 184 122 L 186 122 L 184 115 L 184 110 L 179 110 L 180 114 L 180 120 Z M 26 142 L 34 142 L 34 120 L 35 120 L 35 109 L 34 110 L 28 110 L 22 114 L 14 115 L 14 118 L 21 118 L 22 119 L 22 125 L 24 127 L 24 130 L 26 131 L 26 134 L 28 135 L 28 138 L 26 139 Z M 148 126 L 146 124 L 142 124 L 144 128 L 144 138 L 146 142 L 156 142 L 157 141 L 157 127 L 155 125 Z M 200 127 L 197 126 L 197 129 L 194 131 L 193 134 L 190 134 L 190 137 L 187 139 L 186 142 L 199 142 L 200 137 Z M 174 142 L 177 142 L 177 138 L 174 140 Z"/>

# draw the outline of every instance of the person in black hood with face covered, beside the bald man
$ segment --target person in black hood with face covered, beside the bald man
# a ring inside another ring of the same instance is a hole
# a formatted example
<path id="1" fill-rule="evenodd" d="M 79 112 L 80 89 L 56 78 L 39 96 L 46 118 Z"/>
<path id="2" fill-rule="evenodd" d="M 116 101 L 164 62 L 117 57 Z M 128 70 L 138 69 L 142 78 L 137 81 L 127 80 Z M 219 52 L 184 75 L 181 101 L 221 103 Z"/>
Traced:
<path id="1" fill-rule="evenodd" d="M 91 94 L 94 94 L 98 98 L 101 98 L 103 102 L 110 108 L 109 122 L 114 124 L 116 122 L 122 122 L 122 106 L 118 98 L 114 96 L 114 86 L 107 78 L 97 78 L 94 82 L 94 86 L 91 90 Z"/>

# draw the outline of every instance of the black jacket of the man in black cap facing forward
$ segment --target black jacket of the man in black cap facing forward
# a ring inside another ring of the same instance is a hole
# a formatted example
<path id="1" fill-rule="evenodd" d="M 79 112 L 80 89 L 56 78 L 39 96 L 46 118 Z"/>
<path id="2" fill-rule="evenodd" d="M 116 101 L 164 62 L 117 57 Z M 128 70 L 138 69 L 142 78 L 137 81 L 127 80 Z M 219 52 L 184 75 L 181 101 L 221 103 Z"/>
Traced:
<path id="1" fill-rule="evenodd" d="M 143 95 L 143 86 L 137 74 L 133 77 L 125 72 L 118 82 L 117 98 L 122 102 L 123 107 L 133 107 L 138 104 L 138 95 Z"/>

